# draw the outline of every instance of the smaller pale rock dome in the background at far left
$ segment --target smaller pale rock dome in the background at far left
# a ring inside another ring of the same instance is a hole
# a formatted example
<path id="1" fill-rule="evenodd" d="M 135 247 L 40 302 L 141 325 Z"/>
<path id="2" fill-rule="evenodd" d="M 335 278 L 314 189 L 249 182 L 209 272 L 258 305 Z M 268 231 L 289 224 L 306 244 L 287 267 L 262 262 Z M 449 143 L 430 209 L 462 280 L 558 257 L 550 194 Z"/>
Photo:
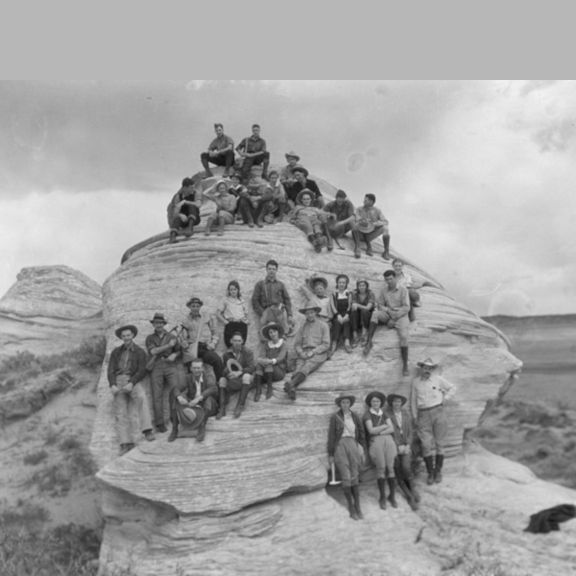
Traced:
<path id="1" fill-rule="evenodd" d="M 68 266 L 24 268 L 0 299 L 0 356 L 60 353 L 102 332 L 100 285 Z"/>

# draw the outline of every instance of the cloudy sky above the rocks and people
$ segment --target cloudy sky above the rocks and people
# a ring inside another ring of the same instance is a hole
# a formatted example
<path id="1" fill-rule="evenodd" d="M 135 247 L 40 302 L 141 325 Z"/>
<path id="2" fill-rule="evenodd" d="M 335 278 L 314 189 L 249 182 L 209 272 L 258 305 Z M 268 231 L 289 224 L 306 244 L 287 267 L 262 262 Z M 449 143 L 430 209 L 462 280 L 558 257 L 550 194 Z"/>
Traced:
<path id="1" fill-rule="evenodd" d="M 392 248 L 475 312 L 576 312 L 573 81 L 0 83 L 0 293 L 34 265 L 103 282 L 215 121 L 376 194 Z"/>

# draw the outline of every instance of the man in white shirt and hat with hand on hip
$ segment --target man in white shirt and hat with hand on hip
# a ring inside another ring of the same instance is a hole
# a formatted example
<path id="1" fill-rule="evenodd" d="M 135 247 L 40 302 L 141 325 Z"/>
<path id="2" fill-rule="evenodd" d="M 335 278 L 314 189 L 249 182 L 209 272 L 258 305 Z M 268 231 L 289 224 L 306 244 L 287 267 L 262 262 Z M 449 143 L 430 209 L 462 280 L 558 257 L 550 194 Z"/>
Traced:
<path id="1" fill-rule="evenodd" d="M 418 375 L 410 387 L 410 410 L 416 422 L 416 432 L 422 443 L 422 453 L 428 484 L 442 482 L 442 465 L 448 420 L 444 402 L 456 392 L 456 386 L 435 373 L 438 364 L 426 358 L 417 364 Z"/>

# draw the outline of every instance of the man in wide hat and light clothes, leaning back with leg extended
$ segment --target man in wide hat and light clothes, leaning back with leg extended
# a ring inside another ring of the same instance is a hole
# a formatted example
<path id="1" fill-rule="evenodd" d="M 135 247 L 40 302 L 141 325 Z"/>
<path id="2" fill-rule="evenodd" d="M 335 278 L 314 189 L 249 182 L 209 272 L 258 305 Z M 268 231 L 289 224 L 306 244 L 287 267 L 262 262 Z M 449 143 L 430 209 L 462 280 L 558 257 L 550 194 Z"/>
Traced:
<path id="1" fill-rule="evenodd" d="M 309 302 L 299 310 L 306 316 L 306 321 L 294 338 L 296 352 L 296 370 L 289 382 L 284 385 L 284 391 L 290 400 L 296 400 L 296 389 L 308 374 L 318 370 L 326 360 L 330 350 L 330 328 L 318 318 L 320 307 Z"/>

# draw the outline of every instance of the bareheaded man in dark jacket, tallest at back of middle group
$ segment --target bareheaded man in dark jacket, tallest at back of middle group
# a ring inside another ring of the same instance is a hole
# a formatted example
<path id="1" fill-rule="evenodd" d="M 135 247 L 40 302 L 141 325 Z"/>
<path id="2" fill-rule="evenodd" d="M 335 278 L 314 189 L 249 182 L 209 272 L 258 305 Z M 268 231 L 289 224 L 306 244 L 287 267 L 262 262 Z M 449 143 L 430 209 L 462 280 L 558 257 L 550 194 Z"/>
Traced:
<path id="1" fill-rule="evenodd" d="M 284 329 L 284 334 L 290 336 L 294 326 L 292 317 L 292 301 L 284 283 L 276 277 L 278 262 L 266 262 L 266 278 L 259 280 L 252 293 L 252 308 L 260 318 L 260 326 L 277 322 Z"/>

